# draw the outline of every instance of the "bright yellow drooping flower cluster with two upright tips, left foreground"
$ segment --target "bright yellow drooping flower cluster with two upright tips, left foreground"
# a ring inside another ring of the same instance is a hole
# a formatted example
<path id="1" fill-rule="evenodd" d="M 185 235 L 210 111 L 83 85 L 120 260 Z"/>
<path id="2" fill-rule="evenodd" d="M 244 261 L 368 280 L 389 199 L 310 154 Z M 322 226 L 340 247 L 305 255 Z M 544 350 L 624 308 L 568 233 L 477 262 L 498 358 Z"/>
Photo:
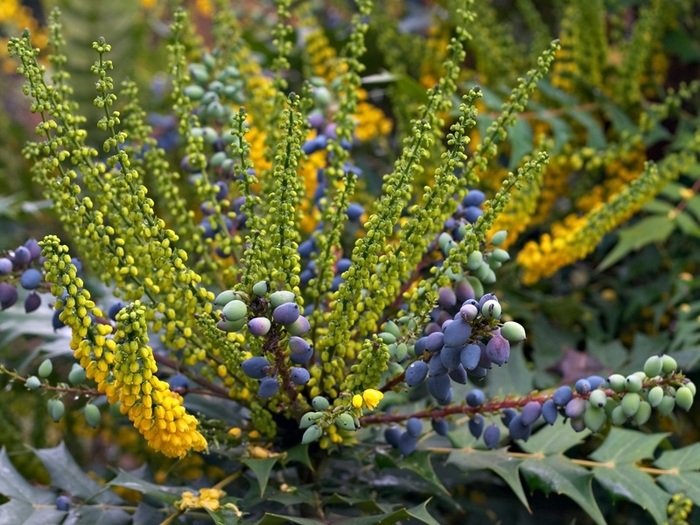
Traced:
<path id="1" fill-rule="evenodd" d="M 136 301 L 124 307 L 117 315 L 114 337 L 108 337 L 112 327 L 93 320 L 102 318 L 102 312 L 83 289 L 68 247 L 55 236 L 47 236 L 41 244 L 46 279 L 53 283 L 52 293 L 62 297 L 56 308 L 63 309 L 61 321 L 73 332 L 71 348 L 87 377 L 95 380 L 110 404 L 121 402 L 121 412 L 155 450 L 169 457 L 205 450 L 207 443 L 197 431 L 195 417 L 185 412 L 180 395 L 155 376 L 145 306 Z"/>

